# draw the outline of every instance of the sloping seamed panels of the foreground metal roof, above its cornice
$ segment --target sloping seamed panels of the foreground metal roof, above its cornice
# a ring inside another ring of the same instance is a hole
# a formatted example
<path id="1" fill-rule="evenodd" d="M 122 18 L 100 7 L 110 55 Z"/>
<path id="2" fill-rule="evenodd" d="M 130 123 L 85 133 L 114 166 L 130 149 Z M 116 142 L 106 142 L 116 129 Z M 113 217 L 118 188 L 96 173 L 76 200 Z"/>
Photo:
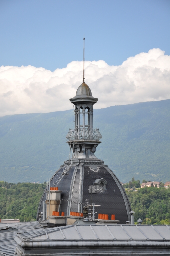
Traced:
<path id="1" fill-rule="evenodd" d="M 70 225 L 20 232 L 23 241 L 42 240 L 154 240 L 170 241 L 166 225 Z"/>

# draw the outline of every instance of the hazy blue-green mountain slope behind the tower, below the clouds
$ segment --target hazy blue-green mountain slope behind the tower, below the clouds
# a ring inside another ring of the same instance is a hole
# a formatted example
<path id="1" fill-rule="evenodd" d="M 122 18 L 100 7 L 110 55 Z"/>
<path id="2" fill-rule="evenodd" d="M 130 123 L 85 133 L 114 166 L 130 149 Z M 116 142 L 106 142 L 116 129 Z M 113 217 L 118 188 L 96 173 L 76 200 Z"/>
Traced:
<path id="1" fill-rule="evenodd" d="M 95 104 L 97 107 L 97 104 Z M 73 110 L 0 118 L 0 177 L 8 182 L 44 182 L 69 155 L 66 134 Z M 170 100 L 94 110 L 103 138 L 96 156 L 120 181 L 170 180 Z"/>

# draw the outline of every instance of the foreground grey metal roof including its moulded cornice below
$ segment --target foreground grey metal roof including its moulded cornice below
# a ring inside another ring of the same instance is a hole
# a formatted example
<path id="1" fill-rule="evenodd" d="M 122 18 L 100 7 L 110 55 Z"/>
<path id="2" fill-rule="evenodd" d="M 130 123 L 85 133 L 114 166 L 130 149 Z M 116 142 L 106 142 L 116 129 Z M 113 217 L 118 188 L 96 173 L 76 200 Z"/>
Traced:
<path id="1" fill-rule="evenodd" d="M 141 227 L 141 225 L 140 225 Z M 135 225 L 71 225 L 18 234 L 16 255 L 170 255 L 170 229 L 142 225 L 148 239 Z M 37 233 L 37 234 L 36 234 Z M 164 237 L 166 234 L 166 240 Z M 21 246 L 21 247 L 20 247 Z M 22 249 L 21 249 L 22 248 Z M 22 251 L 22 254 L 21 254 Z"/>

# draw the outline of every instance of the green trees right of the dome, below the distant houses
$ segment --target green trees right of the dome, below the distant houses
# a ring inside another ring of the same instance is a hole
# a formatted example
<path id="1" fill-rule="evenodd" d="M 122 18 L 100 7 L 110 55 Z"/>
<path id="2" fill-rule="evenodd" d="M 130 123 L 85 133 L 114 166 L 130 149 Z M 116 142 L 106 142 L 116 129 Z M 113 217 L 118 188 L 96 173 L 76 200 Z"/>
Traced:
<path id="1" fill-rule="evenodd" d="M 143 224 L 170 224 L 170 188 L 144 187 L 137 192 L 127 192 L 134 221 Z"/>

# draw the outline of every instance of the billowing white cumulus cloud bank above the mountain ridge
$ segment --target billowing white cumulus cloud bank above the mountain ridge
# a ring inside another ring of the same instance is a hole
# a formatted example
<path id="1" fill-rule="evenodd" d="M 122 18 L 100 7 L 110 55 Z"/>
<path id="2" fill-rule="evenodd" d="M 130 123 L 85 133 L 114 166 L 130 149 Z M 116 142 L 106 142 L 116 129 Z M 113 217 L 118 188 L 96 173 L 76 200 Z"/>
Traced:
<path id="1" fill-rule="evenodd" d="M 83 62 L 54 72 L 33 66 L 0 67 L 0 116 L 72 108 L 68 99 L 82 83 Z M 151 49 L 120 66 L 85 61 L 85 82 L 99 98 L 95 108 L 170 99 L 170 56 Z"/>

